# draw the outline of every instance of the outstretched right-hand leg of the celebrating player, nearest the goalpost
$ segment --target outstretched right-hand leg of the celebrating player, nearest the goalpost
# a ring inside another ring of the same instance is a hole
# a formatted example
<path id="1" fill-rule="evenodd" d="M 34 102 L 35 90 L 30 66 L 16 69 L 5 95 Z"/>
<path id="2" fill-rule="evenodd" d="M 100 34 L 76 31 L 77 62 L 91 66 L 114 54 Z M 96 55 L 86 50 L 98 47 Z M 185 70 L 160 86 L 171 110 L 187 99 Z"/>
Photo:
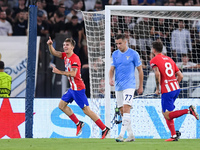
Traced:
<path id="1" fill-rule="evenodd" d="M 96 125 L 102 130 L 102 139 L 104 139 L 110 129 L 106 127 L 104 123 L 101 121 L 101 119 L 97 116 L 97 114 L 90 109 L 87 97 L 85 95 L 85 90 L 74 91 L 74 93 L 75 93 L 74 100 L 83 110 L 83 112 L 87 116 L 89 116 L 96 123 Z"/>

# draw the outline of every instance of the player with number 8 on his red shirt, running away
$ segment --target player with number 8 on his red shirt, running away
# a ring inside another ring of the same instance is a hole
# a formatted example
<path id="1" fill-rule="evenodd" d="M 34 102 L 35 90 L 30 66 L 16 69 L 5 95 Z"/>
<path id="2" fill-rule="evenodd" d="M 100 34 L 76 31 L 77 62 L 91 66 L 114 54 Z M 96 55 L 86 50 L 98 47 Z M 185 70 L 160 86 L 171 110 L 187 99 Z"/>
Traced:
<path id="1" fill-rule="evenodd" d="M 175 131 L 173 119 L 184 114 L 192 114 L 197 120 L 199 120 L 199 115 L 195 111 L 195 107 L 192 105 L 188 109 L 173 111 L 175 108 L 174 102 L 180 93 L 179 83 L 183 79 L 183 74 L 171 58 L 162 54 L 162 49 L 163 45 L 161 42 L 152 43 L 152 52 L 155 57 L 151 59 L 150 65 L 155 72 L 155 93 L 157 95 L 160 93 L 159 84 L 161 85 L 162 113 L 171 132 L 171 138 L 165 141 L 178 141 L 181 133 Z"/>

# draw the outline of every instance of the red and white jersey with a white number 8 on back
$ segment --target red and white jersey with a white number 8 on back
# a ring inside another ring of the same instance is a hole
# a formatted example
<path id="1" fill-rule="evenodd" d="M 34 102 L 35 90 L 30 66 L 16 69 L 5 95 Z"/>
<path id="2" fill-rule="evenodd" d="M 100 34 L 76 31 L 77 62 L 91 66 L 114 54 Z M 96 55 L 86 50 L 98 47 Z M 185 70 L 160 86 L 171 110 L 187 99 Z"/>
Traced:
<path id="1" fill-rule="evenodd" d="M 168 93 L 180 89 L 176 79 L 176 72 L 179 71 L 176 63 L 168 56 L 163 54 L 156 55 L 150 61 L 152 68 L 158 67 L 161 76 L 161 93 Z"/>

